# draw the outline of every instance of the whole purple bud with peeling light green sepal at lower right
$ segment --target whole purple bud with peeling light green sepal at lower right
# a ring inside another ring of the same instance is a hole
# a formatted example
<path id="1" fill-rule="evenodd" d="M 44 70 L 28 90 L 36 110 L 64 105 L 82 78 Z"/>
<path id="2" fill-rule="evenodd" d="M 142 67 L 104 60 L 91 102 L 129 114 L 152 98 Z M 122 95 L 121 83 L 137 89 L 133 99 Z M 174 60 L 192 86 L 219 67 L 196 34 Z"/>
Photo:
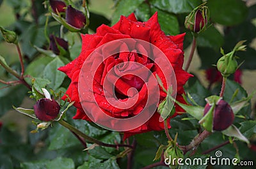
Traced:
<path id="1" fill-rule="evenodd" d="M 234 113 L 227 101 L 218 96 L 205 99 L 204 117 L 199 121 L 207 131 L 223 131 L 234 122 Z"/>

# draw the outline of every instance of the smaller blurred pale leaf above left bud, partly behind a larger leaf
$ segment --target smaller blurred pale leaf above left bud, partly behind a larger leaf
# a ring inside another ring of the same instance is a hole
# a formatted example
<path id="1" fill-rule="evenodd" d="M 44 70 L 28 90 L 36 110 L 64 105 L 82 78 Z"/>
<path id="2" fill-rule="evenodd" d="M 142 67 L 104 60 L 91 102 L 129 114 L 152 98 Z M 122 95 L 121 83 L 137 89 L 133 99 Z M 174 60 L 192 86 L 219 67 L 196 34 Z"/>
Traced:
<path id="1" fill-rule="evenodd" d="M 52 57 L 38 57 L 28 65 L 24 74 L 31 77 L 43 77 L 45 66 L 52 60 Z"/>

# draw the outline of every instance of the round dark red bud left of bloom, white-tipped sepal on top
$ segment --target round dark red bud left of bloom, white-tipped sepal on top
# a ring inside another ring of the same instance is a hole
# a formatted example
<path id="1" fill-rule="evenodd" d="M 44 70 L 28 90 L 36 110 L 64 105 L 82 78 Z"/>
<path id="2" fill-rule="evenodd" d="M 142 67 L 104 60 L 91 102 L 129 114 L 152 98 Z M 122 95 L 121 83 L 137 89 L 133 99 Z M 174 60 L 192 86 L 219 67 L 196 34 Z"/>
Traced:
<path id="1" fill-rule="evenodd" d="M 41 121 L 52 121 L 60 112 L 60 105 L 54 99 L 42 98 L 34 105 L 35 115 Z"/>

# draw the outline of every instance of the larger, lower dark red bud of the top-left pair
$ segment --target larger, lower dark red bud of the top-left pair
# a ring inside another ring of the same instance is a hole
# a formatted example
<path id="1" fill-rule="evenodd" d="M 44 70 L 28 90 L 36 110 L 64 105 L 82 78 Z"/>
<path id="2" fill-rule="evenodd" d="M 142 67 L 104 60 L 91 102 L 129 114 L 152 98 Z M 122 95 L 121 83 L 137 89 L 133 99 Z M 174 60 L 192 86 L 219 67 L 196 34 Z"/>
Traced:
<path id="1" fill-rule="evenodd" d="M 77 29 L 82 29 L 86 25 L 86 16 L 82 11 L 76 10 L 75 8 L 72 8 L 71 5 L 68 5 L 66 21 L 71 26 L 74 26 Z"/>

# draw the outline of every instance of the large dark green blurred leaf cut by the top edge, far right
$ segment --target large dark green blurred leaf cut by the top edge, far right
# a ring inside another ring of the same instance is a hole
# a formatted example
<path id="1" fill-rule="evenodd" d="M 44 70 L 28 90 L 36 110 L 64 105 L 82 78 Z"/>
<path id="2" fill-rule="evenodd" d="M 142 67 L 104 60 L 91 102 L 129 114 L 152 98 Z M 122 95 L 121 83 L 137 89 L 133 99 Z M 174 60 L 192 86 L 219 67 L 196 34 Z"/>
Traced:
<path id="1" fill-rule="evenodd" d="M 243 22 L 248 14 L 246 4 L 241 0 L 209 0 L 211 19 L 224 26 L 234 26 Z"/>

